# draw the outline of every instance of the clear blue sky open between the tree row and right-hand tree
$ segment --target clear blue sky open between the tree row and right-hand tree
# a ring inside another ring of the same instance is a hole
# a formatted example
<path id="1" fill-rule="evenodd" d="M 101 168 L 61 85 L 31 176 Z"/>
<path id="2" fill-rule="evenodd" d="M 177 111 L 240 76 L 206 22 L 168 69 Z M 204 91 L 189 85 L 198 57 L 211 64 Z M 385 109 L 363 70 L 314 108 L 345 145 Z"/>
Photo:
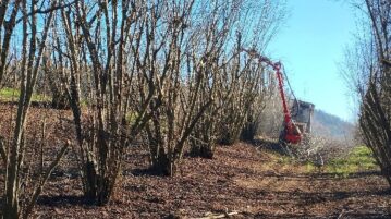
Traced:
<path id="1" fill-rule="evenodd" d="M 339 63 L 354 39 L 354 10 L 344 0 L 288 0 L 288 10 L 268 53 L 283 62 L 298 99 L 352 121 L 353 106 Z"/>

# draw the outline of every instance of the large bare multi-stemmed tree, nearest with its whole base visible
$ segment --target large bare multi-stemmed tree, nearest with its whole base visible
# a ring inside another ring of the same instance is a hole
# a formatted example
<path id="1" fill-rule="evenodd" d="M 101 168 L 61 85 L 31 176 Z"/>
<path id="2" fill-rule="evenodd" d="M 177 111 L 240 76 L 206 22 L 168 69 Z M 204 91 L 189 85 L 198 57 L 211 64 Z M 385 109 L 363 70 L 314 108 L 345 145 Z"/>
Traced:
<path id="1" fill-rule="evenodd" d="M 138 1 L 110 1 L 94 7 L 77 2 L 61 11 L 68 50 L 62 51 L 59 41 L 54 56 L 73 112 L 84 194 L 98 205 L 110 200 L 125 148 L 151 118 L 151 112 L 146 111 L 155 95 L 155 78 L 136 63 L 144 56 L 144 13 L 151 10 L 144 5 Z M 91 70 L 82 72 L 83 68 Z M 93 85 L 84 87 L 88 97 L 78 88 L 83 74 L 89 80 L 86 83 Z M 144 81 L 138 80 L 140 75 Z M 136 87 L 146 86 L 148 94 L 143 98 L 132 94 Z M 81 108 L 82 98 L 88 99 L 86 112 Z M 132 121 L 126 120 L 130 114 Z"/>

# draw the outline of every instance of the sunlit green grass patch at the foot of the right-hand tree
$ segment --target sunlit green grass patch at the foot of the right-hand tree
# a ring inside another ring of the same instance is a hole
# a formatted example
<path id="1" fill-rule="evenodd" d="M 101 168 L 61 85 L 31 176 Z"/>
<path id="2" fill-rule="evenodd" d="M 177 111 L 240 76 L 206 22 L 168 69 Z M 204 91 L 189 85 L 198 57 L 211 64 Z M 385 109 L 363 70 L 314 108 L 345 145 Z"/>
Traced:
<path id="1" fill-rule="evenodd" d="M 355 147 L 346 157 L 334 158 L 325 165 L 323 172 L 337 177 L 349 177 L 352 173 L 378 168 L 371 150 L 366 146 Z"/>

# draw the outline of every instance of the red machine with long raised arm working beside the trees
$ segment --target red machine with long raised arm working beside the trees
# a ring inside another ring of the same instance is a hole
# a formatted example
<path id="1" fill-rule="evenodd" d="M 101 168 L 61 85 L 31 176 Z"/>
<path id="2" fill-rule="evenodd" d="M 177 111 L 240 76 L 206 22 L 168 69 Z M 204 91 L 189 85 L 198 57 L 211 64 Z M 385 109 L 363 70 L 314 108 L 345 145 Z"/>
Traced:
<path id="1" fill-rule="evenodd" d="M 260 62 L 266 63 L 267 65 L 271 66 L 277 74 L 277 78 L 279 82 L 279 90 L 280 96 L 282 100 L 282 107 L 283 107 L 283 113 L 284 113 L 284 121 L 283 121 L 283 130 L 281 132 L 280 139 L 282 139 L 285 143 L 290 144 L 298 144 L 303 139 L 304 133 L 310 132 L 310 118 L 314 110 L 314 105 L 309 102 L 304 102 L 296 100 L 295 106 L 293 106 L 293 109 L 295 109 L 295 118 L 297 120 L 301 120 L 300 122 L 296 122 L 292 119 L 291 112 L 288 109 L 286 98 L 283 89 L 283 75 L 281 72 L 281 62 L 272 62 L 270 59 L 260 56 L 254 50 L 246 50 L 243 49 L 243 51 L 247 52 L 249 56 L 256 57 Z M 304 119 L 303 119 L 304 118 Z"/>

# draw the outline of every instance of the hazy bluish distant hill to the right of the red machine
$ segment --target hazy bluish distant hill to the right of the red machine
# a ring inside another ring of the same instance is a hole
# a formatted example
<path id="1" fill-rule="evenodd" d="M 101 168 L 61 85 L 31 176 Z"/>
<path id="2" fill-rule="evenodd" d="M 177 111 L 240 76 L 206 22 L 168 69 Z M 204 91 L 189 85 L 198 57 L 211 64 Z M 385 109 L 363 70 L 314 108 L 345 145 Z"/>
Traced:
<path id="1" fill-rule="evenodd" d="M 354 125 L 341 118 L 316 109 L 313 120 L 313 133 L 320 136 L 331 136 L 335 139 L 351 139 Z"/>

